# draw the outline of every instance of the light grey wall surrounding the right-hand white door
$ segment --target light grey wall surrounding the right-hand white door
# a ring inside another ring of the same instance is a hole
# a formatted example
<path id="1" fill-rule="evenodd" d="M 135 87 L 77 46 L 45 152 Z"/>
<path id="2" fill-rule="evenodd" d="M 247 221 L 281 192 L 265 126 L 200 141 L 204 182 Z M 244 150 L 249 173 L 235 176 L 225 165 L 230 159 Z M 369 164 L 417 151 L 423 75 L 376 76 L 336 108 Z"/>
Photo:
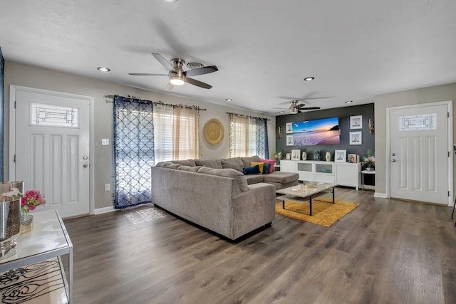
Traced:
<path id="1" fill-rule="evenodd" d="M 379 195 L 386 194 L 386 184 L 389 183 L 389 177 L 386 176 L 386 108 L 398 107 L 401 105 L 418 105 L 420 103 L 432 103 L 436 101 L 453 100 L 453 111 L 455 110 L 456 100 L 456 83 L 447 85 L 436 85 L 428 88 L 418 88 L 415 90 L 405 90 L 395 93 L 377 95 L 374 98 L 375 104 L 375 193 Z M 454 114 L 454 112 L 453 112 Z M 453 121 L 453 143 L 456 143 L 455 137 L 455 115 Z M 453 168 L 454 172 L 454 168 Z M 454 194 L 453 194 L 454 196 Z M 454 199 L 454 197 L 453 197 Z"/>

